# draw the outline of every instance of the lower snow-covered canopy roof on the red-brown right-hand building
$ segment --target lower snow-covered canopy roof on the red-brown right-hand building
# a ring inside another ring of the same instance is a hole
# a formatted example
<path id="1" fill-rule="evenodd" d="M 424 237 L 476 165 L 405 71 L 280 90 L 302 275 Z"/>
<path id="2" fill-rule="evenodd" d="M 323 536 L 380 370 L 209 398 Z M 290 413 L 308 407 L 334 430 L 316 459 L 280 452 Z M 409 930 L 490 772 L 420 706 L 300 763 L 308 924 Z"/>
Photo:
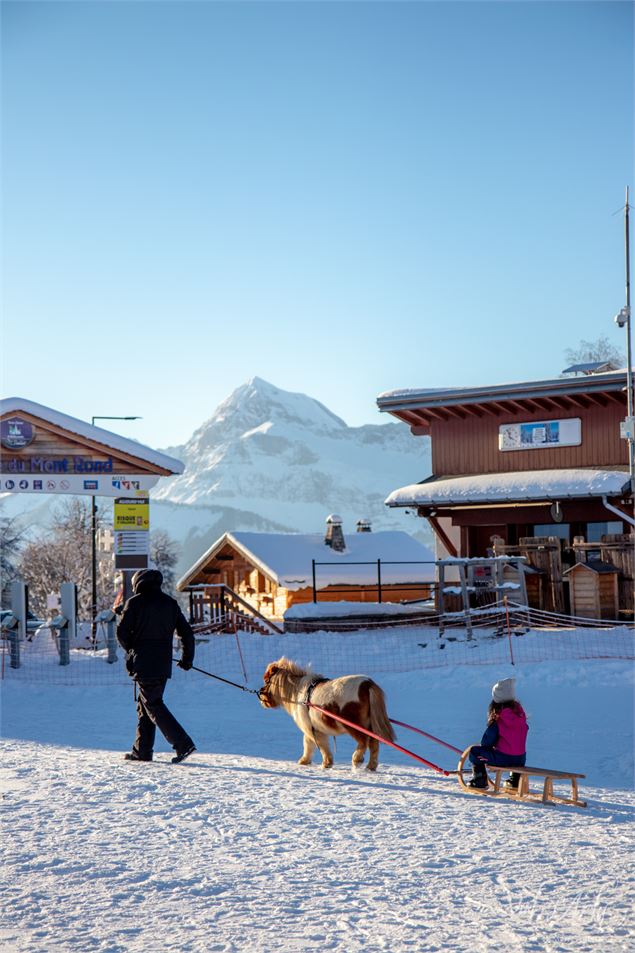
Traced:
<path id="1" fill-rule="evenodd" d="M 459 506 L 620 496 L 628 490 L 625 470 L 522 470 L 435 478 L 393 490 L 387 506 Z"/>

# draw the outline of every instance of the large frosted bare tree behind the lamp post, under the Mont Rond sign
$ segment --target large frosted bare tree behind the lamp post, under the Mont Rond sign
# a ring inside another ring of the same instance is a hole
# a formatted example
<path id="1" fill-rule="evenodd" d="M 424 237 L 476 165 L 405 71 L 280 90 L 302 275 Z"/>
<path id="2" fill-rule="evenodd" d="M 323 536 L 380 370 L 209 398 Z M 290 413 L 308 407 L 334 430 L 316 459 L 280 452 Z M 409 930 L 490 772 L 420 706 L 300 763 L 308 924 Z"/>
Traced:
<path id="1" fill-rule="evenodd" d="M 70 498 L 55 510 L 50 526 L 22 551 L 19 574 L 29 586 L 30 607 L 46 612 L 46 597 L 59 592 L 63 582 L 77 585 L 80 618 L 89 619 L 92 602 L 92 523 L 90 503 Z M 113 601 L 111 559 L 97 563 L 97 611 Z"/>

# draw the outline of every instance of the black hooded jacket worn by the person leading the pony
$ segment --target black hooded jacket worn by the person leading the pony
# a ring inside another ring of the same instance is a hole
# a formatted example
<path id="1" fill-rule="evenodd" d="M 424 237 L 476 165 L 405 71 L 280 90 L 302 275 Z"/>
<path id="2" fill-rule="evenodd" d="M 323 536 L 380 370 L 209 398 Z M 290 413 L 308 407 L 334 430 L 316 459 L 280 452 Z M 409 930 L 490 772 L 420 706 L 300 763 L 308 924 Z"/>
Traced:
<path id="1" fill-rule="evenodd" d="M 126 668 L 133 678 L 170 678 L 174 631 L 181 639 L 182 661 L 194 661 L 194 634 L 178 602 L 161 591 L 163 576 L 156 569 L 135 573 L 135 595 L 128 599 L 117 640 L 126 652 Z"/>

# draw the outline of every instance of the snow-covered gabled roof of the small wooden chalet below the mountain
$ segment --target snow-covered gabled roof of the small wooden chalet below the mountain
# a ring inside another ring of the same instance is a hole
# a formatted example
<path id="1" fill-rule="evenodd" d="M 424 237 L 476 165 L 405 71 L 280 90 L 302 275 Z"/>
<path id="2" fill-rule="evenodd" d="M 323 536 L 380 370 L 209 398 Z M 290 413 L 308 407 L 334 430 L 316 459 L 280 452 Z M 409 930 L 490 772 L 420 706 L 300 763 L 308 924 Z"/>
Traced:
<path id="1" fill-rule="evenodd" d="M 225 533 L 179 580 L 177 588 L 184 589 L 226 543 L 241 550 L 265 575 L 285 589 L 304 589 L 312 585 L 312 560 L 335 564 L 316 567 L 318 586 L 338 583 L 373 585 L 377 582 L 378 559 L 381 560 L 383 584 L 434 580 L 434 554 L 408 533 L 351 533 L 345 536 L 345 542 L 346 549 L 336 552 L 325 545 L 321 533 Z"/>

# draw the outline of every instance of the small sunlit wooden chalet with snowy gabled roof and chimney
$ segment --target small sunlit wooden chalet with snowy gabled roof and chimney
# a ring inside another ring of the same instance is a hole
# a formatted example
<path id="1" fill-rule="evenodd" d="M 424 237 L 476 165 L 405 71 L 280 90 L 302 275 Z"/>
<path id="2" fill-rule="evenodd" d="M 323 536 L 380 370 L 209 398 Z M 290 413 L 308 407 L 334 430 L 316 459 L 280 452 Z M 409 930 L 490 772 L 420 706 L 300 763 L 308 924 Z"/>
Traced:
<path id="1" fill-rule="evenodd" d="M 177 589 L 200 597 L 204 587 L 223 586 L 265 617 L 280 619 L 289 606 L 313 601 L 314 573 L 320 602 L 427 599 L 434 555 L 408 533 L 370 532 L 364 521 L 344 537 L 338 518 L 329 517 L 326 535 L 224 533 Z"/>

